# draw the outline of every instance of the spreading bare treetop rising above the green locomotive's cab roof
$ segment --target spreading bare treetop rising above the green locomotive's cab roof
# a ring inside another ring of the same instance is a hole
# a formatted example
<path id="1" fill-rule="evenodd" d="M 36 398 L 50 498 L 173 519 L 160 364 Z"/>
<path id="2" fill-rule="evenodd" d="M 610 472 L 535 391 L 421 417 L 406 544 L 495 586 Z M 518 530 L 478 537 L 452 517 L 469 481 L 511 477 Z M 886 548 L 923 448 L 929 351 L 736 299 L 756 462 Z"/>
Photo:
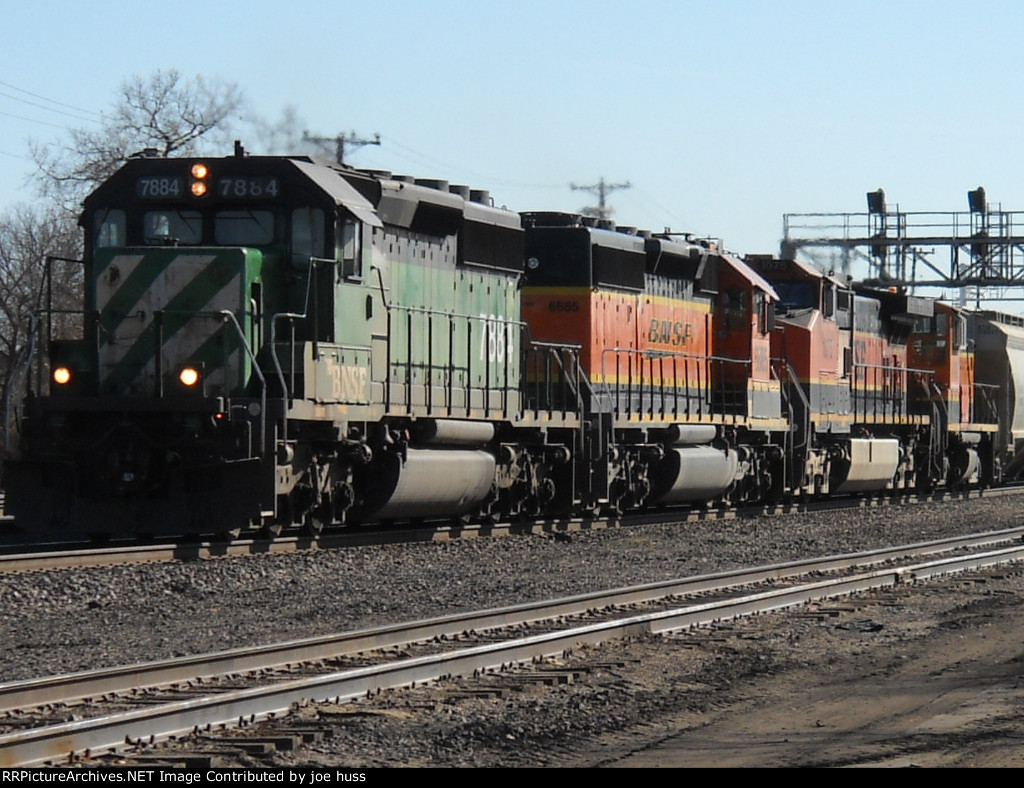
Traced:
<path id="1" fill-rule="evenodd" d="M 158 71 L 122 85 L 98 129 L 74 129 L 67 139 L 32 142 L 40 195 L 76 212 L 81 201 L 132 154 L 154 148 L 160 156 L 186 156 L 212 132 L 227 135 L 244 98 L 233 83 Z M 223 141 L 221 138 L 218 141 Z"/>

